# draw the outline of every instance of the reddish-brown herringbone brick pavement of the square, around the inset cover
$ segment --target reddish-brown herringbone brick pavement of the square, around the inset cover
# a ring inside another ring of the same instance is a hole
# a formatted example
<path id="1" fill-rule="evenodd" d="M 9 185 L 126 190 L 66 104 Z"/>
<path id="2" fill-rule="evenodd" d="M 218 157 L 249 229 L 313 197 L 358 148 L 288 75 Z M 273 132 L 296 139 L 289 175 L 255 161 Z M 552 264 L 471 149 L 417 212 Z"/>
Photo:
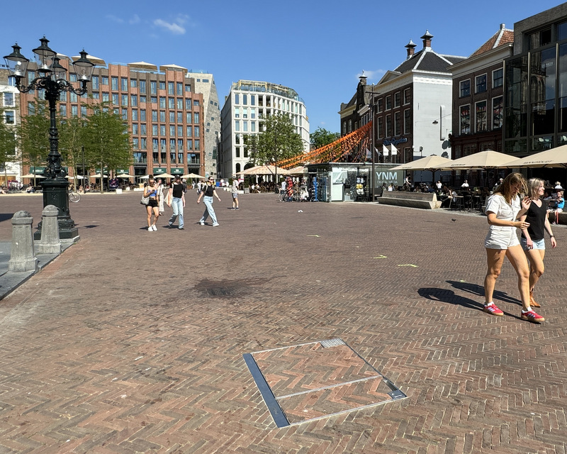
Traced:
<path id="1" fill-rule="evenodd" d="M 566 453 L 565 228 L 536 325 L 508 263 L 482 311 L 482 216 L 221 195 L 212 228 L 194 196 L 185 231 L 71 207 L 82 240 L 0 302 L 0 453 Z M 276 428 L 242 354 L 331 338 L 408 399 Z"/>

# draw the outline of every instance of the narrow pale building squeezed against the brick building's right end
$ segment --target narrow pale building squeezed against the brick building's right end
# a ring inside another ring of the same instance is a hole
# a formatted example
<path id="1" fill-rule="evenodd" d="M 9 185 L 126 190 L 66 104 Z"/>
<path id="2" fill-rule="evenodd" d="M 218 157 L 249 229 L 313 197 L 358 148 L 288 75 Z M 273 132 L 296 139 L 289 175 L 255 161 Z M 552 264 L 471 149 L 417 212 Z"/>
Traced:
<path id="1" fill-rule="evenodd" d="M 205 127 L 205 176 L 217 176 L 217 154 L 220 143 L 220 105 L 213 74 L 189 71 L 187 77 L 195 80 L 195 91 L 203 94 L 203 115 Z"/>

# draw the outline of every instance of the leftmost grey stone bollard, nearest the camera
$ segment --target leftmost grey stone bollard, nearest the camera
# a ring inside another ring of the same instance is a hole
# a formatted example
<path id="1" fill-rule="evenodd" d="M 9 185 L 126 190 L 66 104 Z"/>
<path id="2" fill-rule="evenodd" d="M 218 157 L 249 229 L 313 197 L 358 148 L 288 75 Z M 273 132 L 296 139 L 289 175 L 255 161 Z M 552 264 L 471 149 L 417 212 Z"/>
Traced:
<path id="1" fill-rule="evenodd" d="M 38 259 L 33 253 L 33 218 L 28 211 L 16 211 L 12 217 L 12 249 L 9 271 L 35 271 Z"/>

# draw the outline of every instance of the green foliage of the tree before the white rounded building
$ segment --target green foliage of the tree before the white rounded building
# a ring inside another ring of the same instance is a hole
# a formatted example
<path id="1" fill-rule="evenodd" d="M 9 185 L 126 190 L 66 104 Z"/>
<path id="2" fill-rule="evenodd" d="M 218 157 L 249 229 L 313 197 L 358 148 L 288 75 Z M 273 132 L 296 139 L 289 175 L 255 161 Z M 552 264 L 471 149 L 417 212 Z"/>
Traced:
<path id="1" fill-rule="evenodd" d="M 288 115 L 276 114 L 260 120 L 262 132 L 245 135 L 245 147 L 253 165 L 270 164 L 303 153 L 303 140 Z"/>

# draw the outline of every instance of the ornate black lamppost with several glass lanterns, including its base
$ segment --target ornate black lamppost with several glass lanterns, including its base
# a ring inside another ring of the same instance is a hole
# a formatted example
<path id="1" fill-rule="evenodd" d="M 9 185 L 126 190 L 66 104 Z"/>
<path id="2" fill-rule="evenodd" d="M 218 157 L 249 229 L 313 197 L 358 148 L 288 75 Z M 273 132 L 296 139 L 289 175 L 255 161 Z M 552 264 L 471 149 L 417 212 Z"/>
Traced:
<path id="1" fill-rule="evenodd" d="M 28 60 L 21 55 L 20 49 L 16 43 L 12 46 L 13 52 L 6 55 L 6 65 L 10 74 L 16 77 L 16 88 L 22 92 L 27 93 L 30 90 L 38 89 L 45 90 L 45 99 L 49 103 L 50 112 L 50 128 L 49 128 L 49 143 L 50 152 L 47 155 L 47 167 L 43 172 L 45 179 L 40 184 L 43 186 L 43 206 L 55 205 L 57 206 L 57 221 L 59 223 L 59 236 L 60 238 L 75 238 L 78 236 L 77 227 L 69 215 L 69 199 L 68 199 L 68 186 L 69 182 L 65 178 L 67 172 L 61 166 L 61 155 L 58 150 L 59 133 L 57 132 L 57 101 L 61 92 L 73 92 L 79 96 L 86 93 L 86 84 L 90 82 L 94 70 L 94 63 L 86 58 L 86 52 L 80 52 L 81 57 L 73 62 L 73 67 L 77 72 L 77 80 L 81 82 L 81 87 L 75 89 L 65 79 L 64 67 L 60 65 L 60 60 L 57 57 L 57 52 L 51 50 L 47 43 L 49 40 L 45 36 L 40 39 L 40 47 L 35 48 L 35 54 L 38 62 L 38 74 L 28 86 L 25 85 L 26 74 L 28 72 Z M 24 79 L 24 83 L 22 83 Z M 41 234 L 41 223 L 38 226 L 39 230 L 35 233 L 35 238 L 39 239 Z"/>

